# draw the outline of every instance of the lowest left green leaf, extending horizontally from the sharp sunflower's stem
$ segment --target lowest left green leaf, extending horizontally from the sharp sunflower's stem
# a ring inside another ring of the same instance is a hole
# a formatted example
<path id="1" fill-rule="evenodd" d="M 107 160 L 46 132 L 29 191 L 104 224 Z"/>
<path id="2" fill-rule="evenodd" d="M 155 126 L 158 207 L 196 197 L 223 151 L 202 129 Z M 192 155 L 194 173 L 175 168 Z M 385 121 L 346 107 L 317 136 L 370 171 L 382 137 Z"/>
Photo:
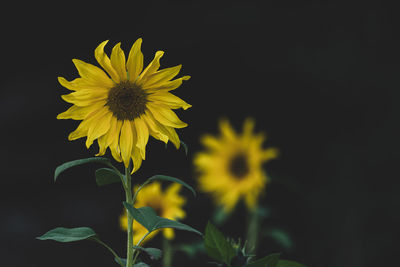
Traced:
<path id="1" fill-rule="evenodd" d="M 89 227 L 64 228 L 58 227 L 37 237 L 39 240 L 54 240 L 58 242 L 75 242 L 93 239 L 97 234 Z"/>

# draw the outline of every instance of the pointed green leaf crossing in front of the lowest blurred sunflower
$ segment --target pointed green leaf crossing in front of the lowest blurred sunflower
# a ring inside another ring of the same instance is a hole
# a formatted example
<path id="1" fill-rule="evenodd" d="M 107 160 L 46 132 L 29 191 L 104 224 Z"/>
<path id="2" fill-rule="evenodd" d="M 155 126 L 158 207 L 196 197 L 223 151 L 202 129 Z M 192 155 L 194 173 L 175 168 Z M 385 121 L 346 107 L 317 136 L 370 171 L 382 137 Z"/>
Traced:
<path id="1" fill-rule="evenodd" d="M 157 216 L 154 209 L 151 207 L 141 207 L 136 209 L 127 202 L 124 202 L 124 206 L 128 210 L 129 214 L 149 232 L 153 232 L 160 228 L 174 228 L 202 235 L 199 231 L 186 224 Z"/>

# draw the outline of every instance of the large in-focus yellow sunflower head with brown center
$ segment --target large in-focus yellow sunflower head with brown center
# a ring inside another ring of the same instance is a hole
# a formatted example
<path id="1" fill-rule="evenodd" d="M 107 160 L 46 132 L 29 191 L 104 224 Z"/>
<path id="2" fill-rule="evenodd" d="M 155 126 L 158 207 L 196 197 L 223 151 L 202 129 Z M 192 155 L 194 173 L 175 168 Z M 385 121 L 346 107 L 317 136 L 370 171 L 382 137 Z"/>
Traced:
<path id="1" fill-rule="evenodd" d="M 139 169 L 145 159 L 149 135 L 165 143 L 171 141 L 180 146 L 175 128 L 186 127 L 172 109 L 188 109 L 190 104 L 170 93 L 190 76 L 172 80 L 182 65 L 161 69 L 163 51 L 157 51 L 154 59 L 143 69 L 142 39 L 139 38 L 125 60 L 121 43 L 114 46 L 109 58 L 104 52 L 108 41 L 102 42 L 94 51 L 100 66 L 73 59 L 80 78 L 67 81 L 58 77 L 65 88 L 74 92 L 62 99 L 73 104 L 57 119 L 82 120 L 78 128 L 69 134 L 69 140 L 87 136 L 86 147 L 97 140 L 99 152 L 110 148 L 112 156 L 128 167 L 132 159 Z"/>

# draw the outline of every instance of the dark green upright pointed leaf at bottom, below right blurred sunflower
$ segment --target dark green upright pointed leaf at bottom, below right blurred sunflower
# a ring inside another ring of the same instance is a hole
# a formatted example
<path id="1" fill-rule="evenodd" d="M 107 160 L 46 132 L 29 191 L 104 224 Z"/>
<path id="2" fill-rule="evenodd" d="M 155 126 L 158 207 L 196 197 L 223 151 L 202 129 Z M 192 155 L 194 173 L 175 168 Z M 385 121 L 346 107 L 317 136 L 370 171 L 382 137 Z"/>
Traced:
<path id="1" fill-rule="evenodd" d="M 210 222 L 207 223 L 204 247 L 208 256 L 224 262 L 230 266 L 233 257 L 235 257 L 235 249 L 231 243 L 226 240 L 225 236 Z"/>

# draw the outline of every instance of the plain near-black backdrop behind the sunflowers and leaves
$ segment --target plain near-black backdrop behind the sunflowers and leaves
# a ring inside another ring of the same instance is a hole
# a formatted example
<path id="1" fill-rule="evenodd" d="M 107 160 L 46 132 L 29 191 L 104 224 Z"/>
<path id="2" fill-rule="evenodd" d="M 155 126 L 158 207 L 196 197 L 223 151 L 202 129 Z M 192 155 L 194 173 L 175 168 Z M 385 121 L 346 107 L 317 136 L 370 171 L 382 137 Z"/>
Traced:
<path id="1" fill-rule="evenodd" d="M 296 247 L 264 239 L 261 254 L 310 267 L 383 266 L 398 252 L 400 40 L 394 7 L 382 1 L 17 3 L 0 17 L 0 254 L 1 266 L 117 266 L 95 243 L 60 244 L 35 237 L 57 226 L 89 226 L 124 253 L 119 229 L 122 189 L 98 188 L 94 170 L 65 172 L 59 164 L 90 157 L 84 140 L 69 142 L 76 121 L 57 121 L 69 105 L 57 76 L 77 77 L 72 58 L 95 63 L 103 40 L 128 51 L 143 38 L 148 63 L 166 51 L 162 66 L 183 64 L 192 79 L 175 94 L 193 107 L 178 115 L 189 146 L 167 149 L 151 140 L 138 181 L 167 174 L 196 185 L 192 157 L 203 133 L 217 133 L 225 116 L 236 128 L 252 116 L 266 145 L 281 157 L 271 176 L 297 185 L 268 187 L 267 221 L 286 229 Z M 188 198 L 185 223 L 204 230 L 210 199 Z M 243 237 L 240 209 L 223 228 Z M 178 232 L 176 242 L 196 239 Z M 153 245 L 159 246 L 159 240 Z M 178 254 L 174 266 L 206 266 Z"/>

